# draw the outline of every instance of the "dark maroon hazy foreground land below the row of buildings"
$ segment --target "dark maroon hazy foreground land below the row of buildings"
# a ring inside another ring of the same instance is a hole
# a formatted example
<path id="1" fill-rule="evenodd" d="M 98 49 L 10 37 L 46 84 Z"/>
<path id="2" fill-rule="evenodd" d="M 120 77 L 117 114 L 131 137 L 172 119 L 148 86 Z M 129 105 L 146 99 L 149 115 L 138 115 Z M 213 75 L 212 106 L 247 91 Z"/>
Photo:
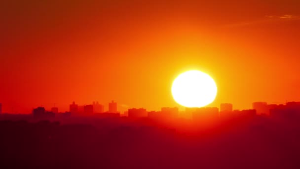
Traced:
<path id="1" fill-rule="evenodd" d="M 260 117 L 202 130 L 173 128 L 147 119 L 5 120 L 0 168 L 300 169 L 297 122 Z"/>

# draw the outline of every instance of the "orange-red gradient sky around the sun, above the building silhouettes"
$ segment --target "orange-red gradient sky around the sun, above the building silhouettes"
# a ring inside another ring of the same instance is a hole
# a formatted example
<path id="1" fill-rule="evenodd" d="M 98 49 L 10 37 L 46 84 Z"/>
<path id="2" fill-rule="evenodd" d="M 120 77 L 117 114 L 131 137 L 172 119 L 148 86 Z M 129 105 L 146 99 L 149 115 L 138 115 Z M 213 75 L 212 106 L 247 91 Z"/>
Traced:
<path id="1" fill-rule="evenodd" d="M 226 1 L 226 2 L 225 2 Z M 4 111 L 72 101 L 178 106 L 184 71 L 210 74 L 209 106 L 300 100 L 299 0 L 1 0 Z"/>

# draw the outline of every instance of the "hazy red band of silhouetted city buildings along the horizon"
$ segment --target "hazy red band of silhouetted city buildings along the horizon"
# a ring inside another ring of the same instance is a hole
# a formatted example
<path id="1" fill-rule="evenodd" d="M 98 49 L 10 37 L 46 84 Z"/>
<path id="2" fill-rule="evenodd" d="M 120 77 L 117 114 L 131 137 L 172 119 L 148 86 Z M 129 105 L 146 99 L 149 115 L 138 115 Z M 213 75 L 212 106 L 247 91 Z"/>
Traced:
<path id="1" fill-rule="evenodd" d="M 211 121 L 214 119 L 228 119 L 233 117 L 256 115 L 272 116 L 274 118 L 300 118 L 300 102 L 287 102 L 286 104 L 267 104 L 266 102 L 252 103 L 250 110 L 234 110 L 230 103 L 222 103 L 220 110 L 217 107 L 186 108 L 179 111 L 178 107 L 162 107 L 160 111 L 147 111 L 145 108 L 130 108 L 124 114 L 117 110 L 117 103 L 112 100 L 108 104 L 108 111 L 104 111 L 104 105 L 93 102 L 90 105 L 70 104 L 69 112 L 60 113 L 57 107 L 46 111 L 43 107 L 33 109 L 32 114 L 36 118 L 53 118 L 59 114 L 63 117 L 96 115 L 98 117 L 150 118 L 172 120 L 176 118 L 193 119 L 197 121 Z M 0 113 L 2 104 L 0 103 Z"/>

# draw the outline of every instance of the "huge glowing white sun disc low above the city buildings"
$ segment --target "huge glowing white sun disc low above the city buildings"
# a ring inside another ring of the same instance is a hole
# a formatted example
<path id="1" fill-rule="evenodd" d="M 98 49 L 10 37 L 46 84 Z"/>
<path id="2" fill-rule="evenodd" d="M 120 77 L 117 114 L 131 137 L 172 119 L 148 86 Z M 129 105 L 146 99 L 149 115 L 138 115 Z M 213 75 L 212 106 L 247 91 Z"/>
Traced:
<path id="1" fill-rule="evenodd" d="M 217 85 L 208 74 L 192 70 L 180 74 L 172 84 L 174 100 L 185 107 L 203 107 L 212 103 Z"/>

